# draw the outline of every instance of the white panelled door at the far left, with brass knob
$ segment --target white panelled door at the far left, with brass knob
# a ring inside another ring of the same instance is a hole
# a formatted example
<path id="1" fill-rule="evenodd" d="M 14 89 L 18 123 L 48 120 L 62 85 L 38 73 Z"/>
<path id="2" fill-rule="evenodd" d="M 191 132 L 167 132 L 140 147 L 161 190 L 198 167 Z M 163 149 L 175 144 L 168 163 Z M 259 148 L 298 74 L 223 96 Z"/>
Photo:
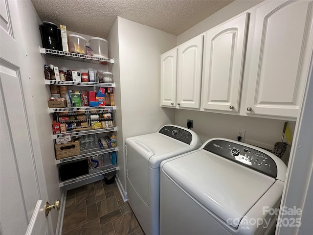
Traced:
<path id="1" fill-rule="evenodd" d="M 47 200 L 39 143 L 32 134 L 31 97 L 16 0 L 0 0 L 0 234 L 47 235 Z"/>

